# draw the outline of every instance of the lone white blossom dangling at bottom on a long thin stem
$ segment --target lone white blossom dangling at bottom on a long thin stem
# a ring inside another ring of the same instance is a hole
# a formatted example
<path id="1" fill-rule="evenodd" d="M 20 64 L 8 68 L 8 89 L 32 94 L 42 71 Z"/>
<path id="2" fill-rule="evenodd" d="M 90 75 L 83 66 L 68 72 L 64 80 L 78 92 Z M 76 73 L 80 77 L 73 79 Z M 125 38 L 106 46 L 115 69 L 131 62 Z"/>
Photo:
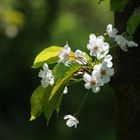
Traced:
<path id="1" fill-rule="evenodd" d="M 67 120 L 67 121 L 66 121 L 66 125 L 67 125 L 68 127 L 74 126 L 75 128 L 77 128 L 77 124 L 79 123 L 79 121 L 77 120 L 77 118 L 75 118 L 75 117 L 72 116 L 72 115 L 65 115 L 65 116 L 64 116 L 64 120 Z"/>

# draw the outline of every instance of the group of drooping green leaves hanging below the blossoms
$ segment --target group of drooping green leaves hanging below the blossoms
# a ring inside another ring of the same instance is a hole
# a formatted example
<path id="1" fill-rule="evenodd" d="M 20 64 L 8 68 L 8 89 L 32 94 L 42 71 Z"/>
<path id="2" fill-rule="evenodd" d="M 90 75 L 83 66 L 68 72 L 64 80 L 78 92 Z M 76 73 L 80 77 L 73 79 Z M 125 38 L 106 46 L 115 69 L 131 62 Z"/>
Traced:
<path id="1" fill-rule="evenodd" d="M 39 86 L 31 97 L 31 119 L 37 118 L 41 112 L 44 113 L 49 122 L 54 110 L 59 112 L 64 88 L 68 85 L 73 74 L 81 68 L 81 65 L 71 61 L 69 66 L 64 63 L 57 64 L 53 69 L 55 84 L 42 88 Z"/>

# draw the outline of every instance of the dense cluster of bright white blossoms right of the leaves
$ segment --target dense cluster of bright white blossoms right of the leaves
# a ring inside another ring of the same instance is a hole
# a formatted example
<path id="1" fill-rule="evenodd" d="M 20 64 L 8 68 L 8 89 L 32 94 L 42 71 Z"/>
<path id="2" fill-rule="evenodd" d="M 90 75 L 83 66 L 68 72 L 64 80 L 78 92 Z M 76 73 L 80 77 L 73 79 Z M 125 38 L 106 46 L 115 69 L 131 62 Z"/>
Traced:
<path id="1" fill-rule="evenodd" d="M 111 62 L 112 56 L 109 53 L 109 44 L 104 42 L 104 37 L 91 34 L 87 48 L 90 50 L 90 55 L 97 59 L 93 66 L 91 75 L 85 73 L 83 79 L 86 82 L 85 88 L 92 89 L 94 93 L 100 91 L 100 87 L 110 81 L 110 77 L 114 74 Z"/>

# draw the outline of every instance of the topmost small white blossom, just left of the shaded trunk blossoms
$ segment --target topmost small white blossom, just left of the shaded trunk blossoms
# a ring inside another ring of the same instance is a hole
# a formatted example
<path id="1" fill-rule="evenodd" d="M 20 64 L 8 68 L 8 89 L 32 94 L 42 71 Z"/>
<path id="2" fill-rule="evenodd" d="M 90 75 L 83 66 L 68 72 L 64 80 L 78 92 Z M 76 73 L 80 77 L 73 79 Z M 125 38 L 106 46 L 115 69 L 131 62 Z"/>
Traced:
<path id="1" fill-rule="evenodd" d="M 118 30 L 116 28 L 113 28 L 112 24 L 108 24 L 106 28 L 106 32 L 109 37 L 115 38 L 116 34 L 118 33 Z"/>

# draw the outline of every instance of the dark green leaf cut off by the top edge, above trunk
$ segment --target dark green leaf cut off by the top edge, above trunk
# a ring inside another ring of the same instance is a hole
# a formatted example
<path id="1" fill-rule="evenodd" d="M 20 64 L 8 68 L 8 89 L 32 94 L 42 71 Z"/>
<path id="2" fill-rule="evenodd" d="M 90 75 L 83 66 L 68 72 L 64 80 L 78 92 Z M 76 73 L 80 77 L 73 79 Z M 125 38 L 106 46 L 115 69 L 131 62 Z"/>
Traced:
<path id="1" fill-rule="evenodd" d="M 122 12 L 129 0 L 110 0 L 110 9 L 114 12 Z"/>

